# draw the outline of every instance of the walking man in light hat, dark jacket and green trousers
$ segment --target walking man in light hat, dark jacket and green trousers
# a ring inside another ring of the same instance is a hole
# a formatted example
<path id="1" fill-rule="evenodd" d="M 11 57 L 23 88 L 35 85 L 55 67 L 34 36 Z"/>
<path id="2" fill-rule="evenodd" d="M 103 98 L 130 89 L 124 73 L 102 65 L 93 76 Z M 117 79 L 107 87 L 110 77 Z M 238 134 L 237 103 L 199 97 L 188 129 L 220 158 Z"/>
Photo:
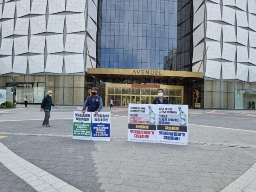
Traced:
<path id="1" fill-rule="evenodd" d="M 40 111 L 44 110 L 45 116 L 44 116 L 44 121 L 43 121 L 43 126 L 45 127 L 51 127 L 51 125 L 49 125 L 49 118 L 50 118 L 50 113 L 51 113 L 51 108 L 52 106 L 56 109 L 57 106 L 55 106 L 52 103 L 52 91 L 49 90 L 47 93 L 47 96 L 44 97 L 42 103 L 41 103 L 41 109 Z"/>

